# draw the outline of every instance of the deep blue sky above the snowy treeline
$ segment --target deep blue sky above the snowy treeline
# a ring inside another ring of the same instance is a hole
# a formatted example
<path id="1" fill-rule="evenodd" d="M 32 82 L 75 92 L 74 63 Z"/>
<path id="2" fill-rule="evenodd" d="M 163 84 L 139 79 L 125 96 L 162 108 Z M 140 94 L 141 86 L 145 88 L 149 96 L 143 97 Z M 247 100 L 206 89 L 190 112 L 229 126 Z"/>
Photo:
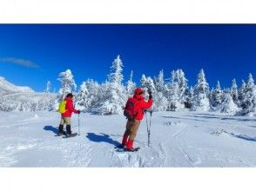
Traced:
<path id="1" fill-rule="evenodd" d="M 142 74 L 165 78 L 183 69 L 194 85 L 205 69 L 210 86 L 219 80 L 256 77 L 256 25 L 231 24 L 0 24 L 0 76 L 17 85 L 43 91 L 49 80 L 71 69 L 77 88 L 88 79 L 104 82 L 120 55 L 126 82 Z"/>

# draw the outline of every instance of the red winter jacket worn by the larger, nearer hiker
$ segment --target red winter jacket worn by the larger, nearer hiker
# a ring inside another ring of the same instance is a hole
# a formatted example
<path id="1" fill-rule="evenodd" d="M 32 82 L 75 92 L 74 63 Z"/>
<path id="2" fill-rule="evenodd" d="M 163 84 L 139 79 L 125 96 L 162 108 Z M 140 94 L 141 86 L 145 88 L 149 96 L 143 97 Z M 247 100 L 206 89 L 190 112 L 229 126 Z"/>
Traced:
<path id="1" fill-rule="evenodd" d="M 145 98 L 142 95 L 133 95 L 133 98 L 138 101 L 138 104 L 136 104 L 136 106 L 138 107 L 138 114 L 134 118 L 136 120 L 142 120 L 144 117 L 144 109 L 151 108 L 153 100 L 149 99 L 148 102 L 145 102 Z"/>

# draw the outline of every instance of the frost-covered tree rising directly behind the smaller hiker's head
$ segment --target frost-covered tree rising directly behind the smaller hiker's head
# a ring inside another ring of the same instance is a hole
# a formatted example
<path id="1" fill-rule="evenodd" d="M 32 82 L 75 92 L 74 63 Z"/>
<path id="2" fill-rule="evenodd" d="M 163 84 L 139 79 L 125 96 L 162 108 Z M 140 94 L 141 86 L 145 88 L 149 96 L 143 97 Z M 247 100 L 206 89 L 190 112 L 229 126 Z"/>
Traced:
<path id="1" fill-rule="evenodd" d="M 64 99 L 68 93 L 74 93 L 77 89 L 77 84 L 72 75 L 71 69 L 59 73 L 57 80 L 61 83 L 61 88 L 58 91 L 60 99 Z"/>

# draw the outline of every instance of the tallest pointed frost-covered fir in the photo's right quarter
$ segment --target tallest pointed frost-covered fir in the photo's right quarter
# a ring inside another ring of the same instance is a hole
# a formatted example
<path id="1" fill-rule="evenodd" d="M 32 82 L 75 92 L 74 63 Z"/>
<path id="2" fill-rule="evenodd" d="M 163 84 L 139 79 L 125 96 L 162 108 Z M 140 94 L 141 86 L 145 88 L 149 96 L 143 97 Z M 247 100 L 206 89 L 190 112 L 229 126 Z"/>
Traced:
<path id="1" fill-rule="evenodd" d="M 198 82 L 194 87 L 192 110 L 208 111 L 210 109 L 208 95 L 209 84 L 206 82 L 204 69 L 201 69 L 198 75 Z"/>

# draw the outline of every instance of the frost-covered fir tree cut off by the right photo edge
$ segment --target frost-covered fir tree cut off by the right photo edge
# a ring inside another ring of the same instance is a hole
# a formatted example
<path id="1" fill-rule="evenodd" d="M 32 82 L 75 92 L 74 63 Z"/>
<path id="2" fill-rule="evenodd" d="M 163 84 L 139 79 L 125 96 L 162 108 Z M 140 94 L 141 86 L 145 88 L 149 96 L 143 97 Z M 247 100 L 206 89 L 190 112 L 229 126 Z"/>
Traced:
<path id="1" fill-rule="evenodd" d="M 256 112 L 256 87 L 253 80 L 253 75 L 249 74 L 248 82 L 245 89 L 245 101 L 243 102 L 243 114 Z M 250 114 L 249 114 L 250 115 Z"/>

